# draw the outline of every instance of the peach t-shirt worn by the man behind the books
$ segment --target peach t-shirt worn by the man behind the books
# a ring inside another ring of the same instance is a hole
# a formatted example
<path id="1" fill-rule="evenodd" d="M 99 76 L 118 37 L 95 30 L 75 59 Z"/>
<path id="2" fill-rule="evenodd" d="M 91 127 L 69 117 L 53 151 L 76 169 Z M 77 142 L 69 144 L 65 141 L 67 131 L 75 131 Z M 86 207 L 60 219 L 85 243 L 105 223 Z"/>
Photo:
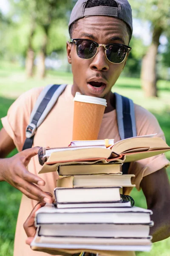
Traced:
<path id="1" fill-rule="evenodd" d="M 13 139 L 18 151 L 22 150 L 23 143 L 26 139 L 26 126 L 29 123 L 31 111 L 37 97 L 42 90 L 43 88 L 39 87 L 23 93 L 23 95 L 21 95 L 11 105 L 7 116 L 1 119 L 3 127 Z M 71 85 L 68 85 L 57 100 L 54 108 L 52 108 L 44 122 L 42 122 L 40 127 L 37 129 L 34 136 L 33 146 L 68 146 L 72 140 L 73 112 L 74 102 L 71 94 Z M 157 137 L 165 139 L 156 118 L 149 111 L 145 110 L 139 105 L 135 105 L 135 116 L 138 136 L 157 133 Z M 98 139 L 105 138 L 114 138 L 115 142 L 120 140 L 116 121 L 116 110 L 105 113 L 103 116 Z M 137 189 L 140 189 L 142 177 L 149 175 L 152 172 L 156 172 L 168 164 L 169 162 L 164 154 L 131 163 L 129 173 L 136 175 L 132 182 L 136 184 Z M 35 156 L 31 159 L 28 165 L 28 170 L 29 172 L 38 175 L 40 169 L 41 166 L 38 163 L 38 157 Z M 53 194 L 53 189 L 56 187 L 56 174 L 41 174 L 40 177 L 44 179 L 46 183 L 43 190 Z M 126 193 L 129 192 L 130 190 L 126 191 Z M 36 201 L 27 198 L 25 195 L 22 196 L 15 233 L 14 256 L 48 255 L 45 253 L 32 251 L 25 243 L 26 234 L 23 229 L 23 223 L 26 221 L 26 218 L 30 214 L 35 204 L 37 204 Z M 115 255 L 123 255 L 123 253 L 116 253 Z M 133 255 L 133 253 L 131 255 Z"/>

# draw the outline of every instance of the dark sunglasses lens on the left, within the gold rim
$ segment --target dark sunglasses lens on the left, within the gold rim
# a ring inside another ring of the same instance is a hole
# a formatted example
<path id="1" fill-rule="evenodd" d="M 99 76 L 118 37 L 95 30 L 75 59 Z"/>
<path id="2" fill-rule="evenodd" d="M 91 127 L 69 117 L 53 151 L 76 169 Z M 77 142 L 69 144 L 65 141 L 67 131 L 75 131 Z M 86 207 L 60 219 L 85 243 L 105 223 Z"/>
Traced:
<path id="1" fill-rule="evenodd" d="M 76 49 L 77 49 L 77 55 L 80 58 L 89 59 L 95 55 L 97 46 L 95 43 L 91 41 L 80 39 L 77 41 Z"/>

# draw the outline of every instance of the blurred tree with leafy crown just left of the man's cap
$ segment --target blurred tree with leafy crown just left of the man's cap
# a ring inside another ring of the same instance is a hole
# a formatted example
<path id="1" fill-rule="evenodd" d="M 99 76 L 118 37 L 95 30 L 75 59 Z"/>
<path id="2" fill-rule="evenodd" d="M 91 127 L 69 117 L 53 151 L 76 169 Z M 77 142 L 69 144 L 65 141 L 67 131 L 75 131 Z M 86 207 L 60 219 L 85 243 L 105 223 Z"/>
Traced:
<path id="1" fill-rule="evenodd" d="M 45 76 L 45 57 L 49 53 L 49 49 L 59 49 L 60 37 L 55 37 L 55 26 L 60 23 L 61 28 L 65 25 L 67 11 L 71 8 L 71 0 L 38 0 L 36 1 L 36 20 L 42 27 L 43 36 L 40 44 L 38 62 L 37 62 L 37 76 L 43 78 Z M 60 21 L 60 22 L 59 22 Z M 62 23 L 61 23 L 62 21 Z M 61 32 L 61 29 L 60 29 Z M 55 40 L 50 42 L 50 36 Z M 57 46 L 59 45 L 59 47 Z M 48 47 L 50 45 L 50 47 Z"/>

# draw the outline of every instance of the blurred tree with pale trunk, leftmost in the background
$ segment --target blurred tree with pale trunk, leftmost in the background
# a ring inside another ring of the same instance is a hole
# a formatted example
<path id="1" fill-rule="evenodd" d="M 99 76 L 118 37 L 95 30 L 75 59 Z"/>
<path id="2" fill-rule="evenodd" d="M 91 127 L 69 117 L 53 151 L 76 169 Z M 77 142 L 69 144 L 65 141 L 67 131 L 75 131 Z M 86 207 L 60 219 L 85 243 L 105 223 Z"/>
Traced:
<path id="1" fill-rule="evenodd" d="M 32 40 L 36 29 L 36 13 L 34 0 L 9 0 L 12 24 L 8 28 L 11 30 L 11 40 L 7 43 L 8 47 L 14 49 L 15 53 L 25 58 L 26 76 L 33 76 L 34 67 L 34 49 Z M 8 41 L 8 35 L 7 35 Z M 19 46 L 19 47 L 18 47 Z M 17 49 L 16 49 L 17 48 Z"/>

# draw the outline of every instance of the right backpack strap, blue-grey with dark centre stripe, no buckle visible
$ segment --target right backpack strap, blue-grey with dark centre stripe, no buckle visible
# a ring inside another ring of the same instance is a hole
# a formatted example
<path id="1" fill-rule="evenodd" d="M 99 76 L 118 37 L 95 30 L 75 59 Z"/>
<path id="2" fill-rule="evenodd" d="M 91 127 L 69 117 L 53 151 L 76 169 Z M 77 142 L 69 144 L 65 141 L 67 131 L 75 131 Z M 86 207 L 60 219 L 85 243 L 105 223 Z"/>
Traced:
<path id="1" fill-rule="evenodd" d="M 136 137 L 135 109 L 131 99 L 114 93 L 116 98 L 116 116 L 121 140 Z M 130 163 L 124 163 L 122 173 L 127 174 Z"/>

